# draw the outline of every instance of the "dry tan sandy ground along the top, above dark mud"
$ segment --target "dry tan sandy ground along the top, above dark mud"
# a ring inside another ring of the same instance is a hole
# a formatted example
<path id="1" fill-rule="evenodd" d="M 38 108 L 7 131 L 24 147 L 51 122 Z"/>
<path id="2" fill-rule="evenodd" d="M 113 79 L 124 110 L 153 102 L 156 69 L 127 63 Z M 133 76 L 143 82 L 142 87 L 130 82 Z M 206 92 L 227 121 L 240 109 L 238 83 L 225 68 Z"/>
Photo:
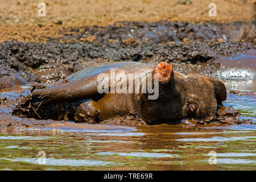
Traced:
<path id="1" fill-rule="evenodd" d="M 5 40 L 45 42 L 58 38 L 63 27 L 106 26 L 117 21 L 233 22 L 255 19 L 254 0 L 139 0 L 68 1 L 45 0 L 46 16 L 39 17 L 40 1 L 1 1 L 0 42 Z M 217 16 L 210 17 L 209 4 L 216 3 Z"/>

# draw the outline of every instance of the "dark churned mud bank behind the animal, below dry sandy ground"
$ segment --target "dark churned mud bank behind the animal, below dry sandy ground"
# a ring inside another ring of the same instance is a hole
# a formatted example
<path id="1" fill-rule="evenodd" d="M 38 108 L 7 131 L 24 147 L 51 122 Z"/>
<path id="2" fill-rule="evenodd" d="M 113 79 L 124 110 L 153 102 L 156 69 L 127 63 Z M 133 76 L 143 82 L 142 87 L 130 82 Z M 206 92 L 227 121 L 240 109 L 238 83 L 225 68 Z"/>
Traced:
<path id="1" fill-rule="evenodd" d="M 219 56 L 255 49 L 255 20 L 191 24 L 117 22 L 106 27 L 63 29 L 48 43 L 0 43 L 0 89 L 51 84 L 82 68 L 113 61 L 205 63 L 205 74 L 220 67 Z"/>

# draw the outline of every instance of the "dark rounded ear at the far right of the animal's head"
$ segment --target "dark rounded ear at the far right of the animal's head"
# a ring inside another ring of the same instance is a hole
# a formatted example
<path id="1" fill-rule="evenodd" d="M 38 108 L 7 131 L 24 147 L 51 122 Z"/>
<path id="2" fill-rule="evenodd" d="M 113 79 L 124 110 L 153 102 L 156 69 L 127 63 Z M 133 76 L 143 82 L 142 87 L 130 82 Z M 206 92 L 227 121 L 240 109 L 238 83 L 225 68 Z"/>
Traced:
<path id="1" fill-rule="evenodd" d="M 210 78 L 207 77 L 207 79 L 212 82 L 213 87 L 214 87 L 214 92 L 215 92 L 215 96 L 218 99 L 220 99 L 221 101 L 225 101 L 226 100 L 226 86 L 220 81 L 220 80 L 216 80 L 214 78 Z"/>

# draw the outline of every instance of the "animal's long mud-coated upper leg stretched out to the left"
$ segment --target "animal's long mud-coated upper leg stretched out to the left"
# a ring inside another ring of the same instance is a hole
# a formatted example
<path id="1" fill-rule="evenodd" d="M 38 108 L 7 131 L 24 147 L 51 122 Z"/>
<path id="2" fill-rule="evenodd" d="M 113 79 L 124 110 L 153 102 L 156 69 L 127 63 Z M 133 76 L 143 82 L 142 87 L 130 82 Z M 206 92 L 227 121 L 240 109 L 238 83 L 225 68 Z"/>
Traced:
<path id="1" fill-rule="evenodd" d="M 59 86 L 48 88 L 34 87 L 26 98 L 20 101 L 13 110 L 14 115 L 26 117 L 38 117 L 38 110 L 57 102 L 75 102 L 85 99 L 97 99 L 101 94 L 97 91 L 97 80 L 87 77 L 82 80 L 69 82 Z"/>

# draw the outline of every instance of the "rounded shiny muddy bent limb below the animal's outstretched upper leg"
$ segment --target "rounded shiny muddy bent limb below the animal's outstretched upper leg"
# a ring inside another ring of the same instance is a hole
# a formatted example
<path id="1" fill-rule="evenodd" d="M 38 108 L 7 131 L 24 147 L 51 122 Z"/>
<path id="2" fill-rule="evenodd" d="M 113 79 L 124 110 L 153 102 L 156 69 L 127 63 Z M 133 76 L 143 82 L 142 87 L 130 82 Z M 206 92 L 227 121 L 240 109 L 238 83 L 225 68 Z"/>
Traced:
<path id="1" fill-rule="evenodd" d="M 76 122 L 87 122 L 89 124 L 96 124 L 100 110 L 95 101 L 87 101 L 77 107 L 74 115 Z"/>

